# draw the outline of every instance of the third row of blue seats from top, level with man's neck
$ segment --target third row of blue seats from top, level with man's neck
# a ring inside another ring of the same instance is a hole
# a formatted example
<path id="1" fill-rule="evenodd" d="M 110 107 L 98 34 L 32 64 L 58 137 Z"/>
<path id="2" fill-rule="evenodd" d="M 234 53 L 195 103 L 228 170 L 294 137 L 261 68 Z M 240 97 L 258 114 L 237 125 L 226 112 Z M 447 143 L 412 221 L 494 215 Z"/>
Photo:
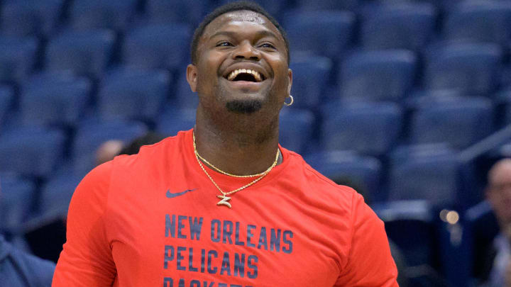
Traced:
<path id="1" fill-rule="evenodd" d="M 165 80 L 165 77 L 162 79 Z M 97 99 L 98 108 L 86 113 L 89 101 L 86 83 L 75 83 L 79 88 L 76 91 L 70 86 L 60 86 L 58 89 L 53 86 L 23 94 L 20 112 L 14 113 L 11 118 L 4 116 L 8 120 L 0 130 L 0 152 L 3 150 L 9 158 L 9 140 L 14 141 L 11 143 L 13 148 L 20 149 L 16 141 L 28 141 L 34 135 L 45 134 L 31 132 L 33 127 L 56 130 L 63 137 L 58 140 L 62 142 L 58 147 L 67 150 L 65 147 L 70 146 L 67 138 L 72 142 L 81 142 L 78 138 L 84 127 L 89 125 L 89 118 L 100 122 L 98 129 L 109 121 L 152 123 L 150 128 L 154 127 L 165 135 L 174 135 L 178 130 L 186 130 L 194 125 L 193 108 L 176 108 L 173 103 L 165 103 L 164 93 L 159 97 L 146 96 L 150 89 L 164 91 L 165 86 L 158 85 L 143 86 L 138 83 L 136 86 L 144 89 L 129 92 L 124 89 L 102 89 Z M 0 102 L 9 103 L 10 98 L 12 94 L 9 89 L 0 89 Z M 503 110 L 509 120 L 510 93 L 505 99 L 507 103 Z M 0 120 L 2 113 L 6 113 L 2 110 Z M 354 150 L 377 157 L 399 145 L 445 143 L 455 150 L 463 150 L 498 128 L 495 118 L 500 109 L 495 107 L 493 101 L 483 97 L 427 96 L 416 99 L 407 108 L 397 103 L 331 101 L 319 111 L 321 118 L 308 110 L 285 108 L 280 118 L 282 145 L 300 154 L 318 150 Z M 29 132 L 21 132 L 23 129 Z M 82 153 L 80 150 L 76 152 Z M 16 164 L 17 159 L 12 160 Z"/>

